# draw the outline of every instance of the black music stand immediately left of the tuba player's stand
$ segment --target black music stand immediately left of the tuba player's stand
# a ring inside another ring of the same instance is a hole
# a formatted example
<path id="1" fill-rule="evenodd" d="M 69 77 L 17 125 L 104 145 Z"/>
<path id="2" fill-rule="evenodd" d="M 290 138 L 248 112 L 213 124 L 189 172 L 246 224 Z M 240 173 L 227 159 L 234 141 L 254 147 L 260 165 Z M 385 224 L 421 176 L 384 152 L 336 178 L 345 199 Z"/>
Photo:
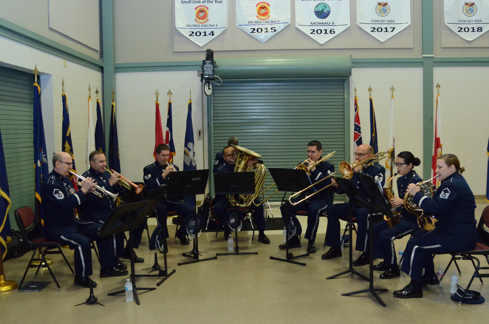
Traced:
<path id="1" fill-rule="evenodd" d="M 200 252 L 204 252 L 204 251 L 199 251 L 199 236 L 197 235 L 199 231 L 197 229 L 198 222 L 197 222 L 196 195 L 205 193 L 205 187 L 207 186 L 207 179 L 209 179 L 209 169 L 174 172 L 172 173 L 172 176 L 168 180 L 169 189 L 168 189 L 168 193 L 166 194 L 167 198 L 194 196 L 194 208 L 195 208 L 194 224 L 196 225 L 194 248 L 190 252 L 182 253 L 183 256 L 191 258 L 192 260 L 185 261 L 185 262 L 178 262 L 177 265 L 217 259 L 217 256 L 207 257 L 203 259 L 199 258 Z"/>

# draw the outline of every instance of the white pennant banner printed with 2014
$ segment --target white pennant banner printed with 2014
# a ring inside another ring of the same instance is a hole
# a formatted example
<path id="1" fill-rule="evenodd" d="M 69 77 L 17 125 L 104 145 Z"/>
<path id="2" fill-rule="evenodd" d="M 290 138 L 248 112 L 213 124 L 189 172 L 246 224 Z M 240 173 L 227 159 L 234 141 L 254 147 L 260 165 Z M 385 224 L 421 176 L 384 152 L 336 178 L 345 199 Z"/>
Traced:
<path id="1" fill-rule="evenodd" d="M 199 46 L 227 27 L 229 0 L 175 0 L 175 27 Z"/>

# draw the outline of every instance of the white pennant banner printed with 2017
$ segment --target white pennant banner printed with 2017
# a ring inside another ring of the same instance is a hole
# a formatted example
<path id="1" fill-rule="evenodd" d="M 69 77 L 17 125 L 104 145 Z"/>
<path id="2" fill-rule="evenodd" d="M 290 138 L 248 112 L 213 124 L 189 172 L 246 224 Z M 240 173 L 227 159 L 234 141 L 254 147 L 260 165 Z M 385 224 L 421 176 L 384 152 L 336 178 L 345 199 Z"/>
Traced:
<path id="1" fill-rule="evenodd" d="M 411 24 L 411 1 L 357 0 L 356 23 L 380 42 L 385 42 Z"/>

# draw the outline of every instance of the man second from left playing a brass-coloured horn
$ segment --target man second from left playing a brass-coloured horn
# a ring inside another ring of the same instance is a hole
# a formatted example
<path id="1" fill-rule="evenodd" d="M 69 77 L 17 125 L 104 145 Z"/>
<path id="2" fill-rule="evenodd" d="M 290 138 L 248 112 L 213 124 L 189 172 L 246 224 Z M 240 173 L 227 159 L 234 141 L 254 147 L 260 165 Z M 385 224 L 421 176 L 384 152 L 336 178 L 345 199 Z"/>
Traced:
<path id="1" fill-rule="evenodd" d="M 97 185 L 103 187 L 105 190 L 118 194 L 123 192 L 125 189 L 121 184 L 120 173 L 111 172 L 106 169 L 107 161 L 105 158 L 105 154 L 101 151 L 93 151 L 89 155 L 90 168 L 86 171 L 82 176 L 85 178 L 92 178 Z M 111 199 L 108 195 L 104 195 L 103 197 L 98 197 L 96 195 L 87 196 L 87 203 L 81 206 L 83 211 L 83 218 L 85 220 L 89 220 L 95 223 L 104 224 L 107 221 L 107 218 L 111 214 L 112 210 L 116 209 L 117 205 L 114 200 Z M 141 225 L 138 229 L 133 230 L 133 245 L 134 249 L 139 247 L 139 242 L 141 241 L 141 237 L 143 235 L 143 231 L 146 224 Z M 119 233 L 114 235 L 114 245 L 115 245 L 115 256 L 117 258 L 130 259 L 131 251 L 129 249 L 129 245 L 124 249 L 124 233 Z M 142 257 L 138 257 L 134 252 L 134 262 L 142 263 L 144 259 Z M 116 267 L 120 269 L 126 269 L 127 266 L 120 262 L 117 259 L 118 265 Z"/>

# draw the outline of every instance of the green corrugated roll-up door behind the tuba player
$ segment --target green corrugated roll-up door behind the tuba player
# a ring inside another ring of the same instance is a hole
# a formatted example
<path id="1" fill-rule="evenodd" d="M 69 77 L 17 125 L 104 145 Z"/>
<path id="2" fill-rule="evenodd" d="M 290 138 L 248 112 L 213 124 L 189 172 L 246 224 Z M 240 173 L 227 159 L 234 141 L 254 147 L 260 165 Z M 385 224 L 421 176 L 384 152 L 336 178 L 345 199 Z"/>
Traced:
<path id="1" fill-rule="evenodd" d="M 323 156 L 336 151 L 329 161 L 337 168 L 345 160 L 344 88 L 343 79 L 224 80 L 212 100 L 214 156 L 235 136 L 240 146 L 261 154 L 267 168 L 294 168 L 317 139 Z M 272 183 L 267 171 L 265 186 Z"/>

